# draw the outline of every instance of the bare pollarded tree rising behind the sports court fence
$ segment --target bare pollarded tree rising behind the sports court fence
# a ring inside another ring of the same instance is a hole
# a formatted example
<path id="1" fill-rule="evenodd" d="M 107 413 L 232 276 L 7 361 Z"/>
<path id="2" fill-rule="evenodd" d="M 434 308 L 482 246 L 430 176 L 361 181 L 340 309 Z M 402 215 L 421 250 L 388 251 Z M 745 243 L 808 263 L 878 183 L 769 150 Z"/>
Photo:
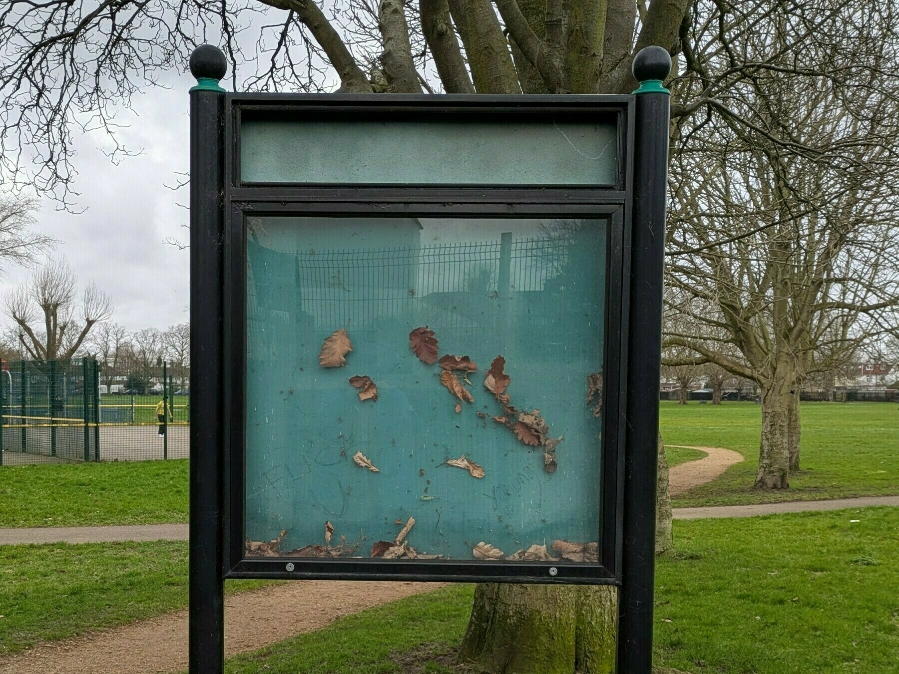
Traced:
<path id="1" fill-rule="evenodd" d="M 75 274 L 63 258 L 49 260 L 28 283 L 6 295 L 6 314 L 30 359 L 72 358 L 94 324 L 112 315 L 109 297 L 93 282 L 85 287 L 80 305 L 76 297 Z"/>

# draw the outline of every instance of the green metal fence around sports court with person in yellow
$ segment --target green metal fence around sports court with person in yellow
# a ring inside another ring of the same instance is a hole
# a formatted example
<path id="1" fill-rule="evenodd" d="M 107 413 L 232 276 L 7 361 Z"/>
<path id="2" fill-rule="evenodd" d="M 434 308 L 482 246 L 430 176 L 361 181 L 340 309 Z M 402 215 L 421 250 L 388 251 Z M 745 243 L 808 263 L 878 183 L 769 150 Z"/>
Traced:
<path id="1" fill-rule="evenodd" d="M 190 398 L 180 378 L 176 389 L 161 362 L 141 389 L 108 394 L 93 359 L 4 363 L 0 466 L 187 457 Z"/>

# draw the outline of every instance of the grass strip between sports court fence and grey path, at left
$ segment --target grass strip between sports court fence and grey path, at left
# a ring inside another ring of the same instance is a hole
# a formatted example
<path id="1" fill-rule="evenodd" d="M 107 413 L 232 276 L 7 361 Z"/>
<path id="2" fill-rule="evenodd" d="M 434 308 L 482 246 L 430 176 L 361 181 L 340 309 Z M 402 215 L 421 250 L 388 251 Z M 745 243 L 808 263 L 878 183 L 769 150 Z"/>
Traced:
<path id="1" fill-rule="evenodd" d="M 186 522 L 188 461 L 0 468 L 0 528 Z"/>

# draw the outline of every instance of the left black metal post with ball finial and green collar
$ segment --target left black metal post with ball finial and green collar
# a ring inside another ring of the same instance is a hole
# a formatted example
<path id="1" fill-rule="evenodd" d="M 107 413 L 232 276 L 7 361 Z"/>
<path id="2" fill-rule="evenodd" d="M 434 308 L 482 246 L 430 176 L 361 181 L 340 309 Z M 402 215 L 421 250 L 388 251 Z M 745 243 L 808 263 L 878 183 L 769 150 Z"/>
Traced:
<path id="1" fill-rule="evenodd" d="M 225 670 L 222 579 L 224 406 L 225 55 L 211 45 L 191 54 L 191 541 L 190 674 Z"/>

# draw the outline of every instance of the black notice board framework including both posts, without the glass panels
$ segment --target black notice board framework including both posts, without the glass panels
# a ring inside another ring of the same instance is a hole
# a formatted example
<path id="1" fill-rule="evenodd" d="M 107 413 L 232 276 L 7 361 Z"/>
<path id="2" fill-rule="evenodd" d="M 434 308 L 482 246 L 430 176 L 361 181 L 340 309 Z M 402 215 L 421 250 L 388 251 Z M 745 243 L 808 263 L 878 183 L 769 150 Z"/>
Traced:
<path id="1" fill-rule="evenodd" d="M 191 672 L 222 671 L 225 578 L 331 578 L 619 585 L 618 671 L 648 674 L 668 106 L 659 88 L 630 96 L 244 94 L 202 83 L 191 90 Z M 236 131 L 245 114 L 614 116 L 619 170 L 614 185 L 586 187 L 242 183 Z M 547 563 L 245 558 L 247 213 L 609 217 L 601 563 L 556 563 L 557 574 L 550 576 Z M 294 571 L 287 571 L 288 563 Z"/>

